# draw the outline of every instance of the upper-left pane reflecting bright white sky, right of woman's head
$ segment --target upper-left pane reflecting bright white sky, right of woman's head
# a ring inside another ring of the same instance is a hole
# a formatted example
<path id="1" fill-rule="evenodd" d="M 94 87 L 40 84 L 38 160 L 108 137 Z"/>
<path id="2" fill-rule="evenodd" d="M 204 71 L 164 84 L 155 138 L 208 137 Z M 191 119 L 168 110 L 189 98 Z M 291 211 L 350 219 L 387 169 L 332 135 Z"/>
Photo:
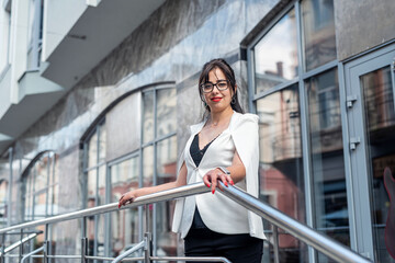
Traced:
<path id="1" fill-rule="evenodd" d="M 256 93 L 297 76 L 295 10 L 285 14 L 255 46 Z"/>

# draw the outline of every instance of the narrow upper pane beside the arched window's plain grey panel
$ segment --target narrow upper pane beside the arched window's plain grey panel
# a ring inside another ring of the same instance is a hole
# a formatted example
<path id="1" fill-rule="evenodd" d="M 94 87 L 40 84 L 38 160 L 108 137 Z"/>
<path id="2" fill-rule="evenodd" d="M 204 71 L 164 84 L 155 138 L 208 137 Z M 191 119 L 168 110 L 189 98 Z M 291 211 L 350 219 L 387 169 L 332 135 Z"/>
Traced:
<path id="1" fill-rule="evenodd" d="M 154 140 L 154 91 L 143 93 L 143 142 Z"/>

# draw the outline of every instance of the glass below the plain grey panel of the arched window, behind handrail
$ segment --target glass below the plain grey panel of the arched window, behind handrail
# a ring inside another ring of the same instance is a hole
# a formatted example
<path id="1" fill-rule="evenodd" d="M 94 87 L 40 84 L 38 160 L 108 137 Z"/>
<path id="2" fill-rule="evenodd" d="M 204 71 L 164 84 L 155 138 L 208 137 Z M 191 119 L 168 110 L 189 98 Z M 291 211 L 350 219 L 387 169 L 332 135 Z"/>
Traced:
<path id="1" fill-rule="evenodd" d="M 138 188 L 139 158 L 133 157 L 111 167 L 111 202 L 117 202 L 121 195 Z M 112 256 L 138 243 L 137 208 L 111 213 Z"/>

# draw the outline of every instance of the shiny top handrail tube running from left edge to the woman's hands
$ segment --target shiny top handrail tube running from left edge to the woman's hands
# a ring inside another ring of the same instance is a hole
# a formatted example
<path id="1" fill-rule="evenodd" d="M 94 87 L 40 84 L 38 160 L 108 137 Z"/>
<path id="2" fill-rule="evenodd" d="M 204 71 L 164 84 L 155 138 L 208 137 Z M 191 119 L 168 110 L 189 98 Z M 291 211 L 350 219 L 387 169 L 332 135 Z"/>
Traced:
<path id="1" fill-rule="evenodd" d="M 195 195 L 195 194 L 203 194 L 203 193 L 208 193 L 208 192 L 210 192 L 210 188 L 207 186 L 205 186 L 203 183 L 189 184 L 185 186 L 140 196 L 140 197 L 136 198 L 135 202 L 133 202 L 129 205 L 124 206 L 121 209 L 128 209 L 132 207 L 145 205 L 145 204 L 169 201 L 169 199 L 185 197 L 185 196 Z M 11 231 L 11 230 L 21 229 L 21 228 L 31 228 L 31 227 L 45 225 L 45 224 L 55 224 L 55 222 L 71 220 L 71 219 L 81 218 L 81 217 L 94 216 L 94 215 L 114 211 L 114 210 L 119 210 L 117 203 L 97 206 L 97 207 L 92 207 L 92 208 L 88 208 L 88 209 L 83 209 L 83 210 L 71 211 L 68 214 L 58 215 L 58 216 L 54 216 L 54 217 L 49 217 L 49 218 L 45 218 L 45 219 L 40 219 L 40 220 L 31 221 L 31 222 L 15 225 L 12 227 L 0 229 L 0 233 L 4 233 L 4 232 Z"/>

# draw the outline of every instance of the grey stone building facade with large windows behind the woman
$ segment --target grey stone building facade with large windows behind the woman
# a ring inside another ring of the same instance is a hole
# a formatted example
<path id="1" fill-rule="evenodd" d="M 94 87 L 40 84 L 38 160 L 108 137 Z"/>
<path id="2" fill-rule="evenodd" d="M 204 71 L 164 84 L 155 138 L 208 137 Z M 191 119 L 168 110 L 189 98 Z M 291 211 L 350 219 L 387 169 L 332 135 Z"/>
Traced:
<path id="1" fill-rule="evenodd" d="M 1 227 L 174 180 L 204 113 L 200 70 L 223 57 L 260 119 L 260 198 L 395 262 L 383 179 L 395 171 L 393 0 L 0 2 Z M 154 253 L 181 255 L 173 203 L 148 208 Z M 143 208 L 88 218 L 89 254 L 119 255 L 144 222 Z M 50 253 L 79 254 L 80 237 L 80 220 L 50 226 Z M 282 262 L 331 262 L 281 230 L 279 245 Z"/>

